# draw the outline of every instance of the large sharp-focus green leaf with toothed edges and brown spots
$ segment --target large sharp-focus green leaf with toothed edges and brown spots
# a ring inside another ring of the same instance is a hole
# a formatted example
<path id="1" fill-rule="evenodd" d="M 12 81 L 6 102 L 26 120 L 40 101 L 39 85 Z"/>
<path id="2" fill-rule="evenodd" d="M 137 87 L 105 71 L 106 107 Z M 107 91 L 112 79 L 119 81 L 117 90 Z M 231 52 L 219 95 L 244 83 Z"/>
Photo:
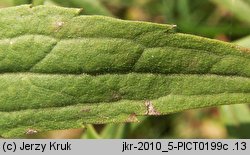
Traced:
<path id="1" fill-rule="evenodd" d="M 1 136 L 250 103 L 249 50 L 79 12 L 0 10 Z"/>

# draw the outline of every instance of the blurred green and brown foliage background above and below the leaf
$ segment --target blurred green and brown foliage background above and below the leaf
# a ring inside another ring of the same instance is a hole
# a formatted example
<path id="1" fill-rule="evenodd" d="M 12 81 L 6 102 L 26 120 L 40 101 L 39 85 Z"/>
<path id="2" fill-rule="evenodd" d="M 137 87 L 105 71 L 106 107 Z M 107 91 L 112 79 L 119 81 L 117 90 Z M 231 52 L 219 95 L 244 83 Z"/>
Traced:
<path id="1" fill-rule="evenodd" d="M 177 31 L 250 48 L 250 0 L 1 0 L 83 8 L 82 14 L 176 24 Z M 188 110 L 140 123 L 86 125 L 26 138 L 250 138 L 249 105 Z"/>

